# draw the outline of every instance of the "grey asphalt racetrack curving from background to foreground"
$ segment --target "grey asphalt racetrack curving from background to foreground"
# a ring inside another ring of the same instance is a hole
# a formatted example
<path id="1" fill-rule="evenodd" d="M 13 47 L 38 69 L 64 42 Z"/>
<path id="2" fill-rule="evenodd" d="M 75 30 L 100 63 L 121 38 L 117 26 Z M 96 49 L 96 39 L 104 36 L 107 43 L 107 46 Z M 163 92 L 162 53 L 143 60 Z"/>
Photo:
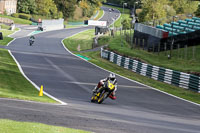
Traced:
<path id="1" fill-rule="evenodd" d="M 113 13 L 104 10 L 102 20 L 110 19 Z M 89 28 L 41 33 L 33 46 L 27 45 L 28 37 L 18 38 L 7 47 L 31 81 L 67 105 L 0 99 L 0 118 L 97 133 L 200 132 L 200 106 L 120 76 L 117 100 L 90 103 L 92 89 L 109 72 L 72 55 L 61 43 Z"/>

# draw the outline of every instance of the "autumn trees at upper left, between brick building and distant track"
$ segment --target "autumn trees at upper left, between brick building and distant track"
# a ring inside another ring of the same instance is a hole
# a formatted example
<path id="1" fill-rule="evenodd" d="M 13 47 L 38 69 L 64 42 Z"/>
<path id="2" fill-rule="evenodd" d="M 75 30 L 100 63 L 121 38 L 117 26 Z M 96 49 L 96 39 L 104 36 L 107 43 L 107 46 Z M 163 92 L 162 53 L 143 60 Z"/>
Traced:
<path id="1" fill-rule="evenodd" d="M 50 18 L 74 17 L 77 7 L 82 9 L 82 16 L 91 17 L 105 0 L 18 0 L 17 12 Z"/>

